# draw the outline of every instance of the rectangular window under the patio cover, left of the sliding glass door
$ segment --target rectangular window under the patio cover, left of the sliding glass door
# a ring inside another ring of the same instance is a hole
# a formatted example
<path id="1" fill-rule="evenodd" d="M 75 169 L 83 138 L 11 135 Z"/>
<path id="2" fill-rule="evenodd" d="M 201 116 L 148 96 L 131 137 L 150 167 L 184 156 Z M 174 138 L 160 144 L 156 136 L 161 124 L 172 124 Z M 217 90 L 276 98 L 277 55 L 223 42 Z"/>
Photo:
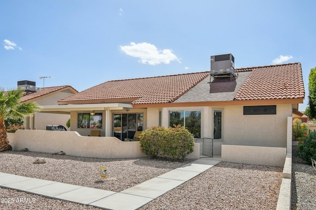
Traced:
<path id="1" fill-rule="evenodd" d="M 102 113 L 95 113 L 93 116 L 90 113 L 79 113 L 78 128 L 102 128 Z"/>

